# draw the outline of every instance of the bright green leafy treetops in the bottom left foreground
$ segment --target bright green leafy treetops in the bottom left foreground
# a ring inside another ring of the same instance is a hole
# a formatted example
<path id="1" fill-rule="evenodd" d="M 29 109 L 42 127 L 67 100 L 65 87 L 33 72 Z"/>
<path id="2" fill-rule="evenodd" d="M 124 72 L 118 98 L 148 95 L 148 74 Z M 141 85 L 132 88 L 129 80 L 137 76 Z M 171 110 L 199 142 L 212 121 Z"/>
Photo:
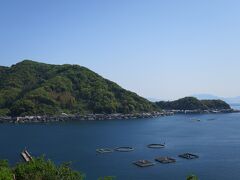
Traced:
<path id="1" fill-rule="evenodd" d="M 10 167 L 6 160 L 0 161 L 0 180 L 84 180 L 84 174 L 74 171 L 69 163 L 55 165 L 44 157 Z"/>

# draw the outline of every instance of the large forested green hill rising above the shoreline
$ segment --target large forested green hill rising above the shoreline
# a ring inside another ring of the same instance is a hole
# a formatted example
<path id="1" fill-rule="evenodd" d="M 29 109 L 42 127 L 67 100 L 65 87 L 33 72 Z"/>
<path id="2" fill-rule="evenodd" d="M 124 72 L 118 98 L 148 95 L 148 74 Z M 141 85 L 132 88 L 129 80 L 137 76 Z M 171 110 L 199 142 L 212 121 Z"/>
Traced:
<path id="1" fill-rule="evenodd" d="M 154 103 L 79 65 L 24 60 L 0 66 L 0 115 L 134 113 Z"/>

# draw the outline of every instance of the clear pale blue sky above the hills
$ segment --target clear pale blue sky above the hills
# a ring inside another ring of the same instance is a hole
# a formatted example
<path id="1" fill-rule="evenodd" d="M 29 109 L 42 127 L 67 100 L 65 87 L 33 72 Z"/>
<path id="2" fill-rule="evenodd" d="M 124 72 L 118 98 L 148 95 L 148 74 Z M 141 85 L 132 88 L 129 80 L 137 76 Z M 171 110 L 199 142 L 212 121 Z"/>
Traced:
<path id="1" fill-rule="evenodd" d="M 144 97 L 240 95 L 239 0 L 1 0 L 0 64 L 79 64 Z"/>

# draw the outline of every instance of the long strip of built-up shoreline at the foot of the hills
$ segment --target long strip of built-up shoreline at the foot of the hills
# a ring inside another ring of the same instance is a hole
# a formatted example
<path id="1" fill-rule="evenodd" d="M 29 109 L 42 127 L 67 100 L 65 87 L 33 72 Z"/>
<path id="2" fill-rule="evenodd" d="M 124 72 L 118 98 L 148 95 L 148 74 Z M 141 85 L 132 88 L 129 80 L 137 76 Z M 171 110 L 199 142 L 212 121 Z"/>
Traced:
<path id="1" fill-rule="evenodd" d="M 175 114 L 219 114 L 219 113 L 238 113 L 240 110 L 163 110 L 162 112 L 132 113 L 132 114 L 65 114 L 62 115 L 43 115 L 43 116 L 21 116 L 21 117 L 0 117 L 0 123 L 49 123 L 67 121 L 96 121 L 96 120 L 126 120 L 139 118 L 156 118 L 160 116 L 173 116 Z"/>

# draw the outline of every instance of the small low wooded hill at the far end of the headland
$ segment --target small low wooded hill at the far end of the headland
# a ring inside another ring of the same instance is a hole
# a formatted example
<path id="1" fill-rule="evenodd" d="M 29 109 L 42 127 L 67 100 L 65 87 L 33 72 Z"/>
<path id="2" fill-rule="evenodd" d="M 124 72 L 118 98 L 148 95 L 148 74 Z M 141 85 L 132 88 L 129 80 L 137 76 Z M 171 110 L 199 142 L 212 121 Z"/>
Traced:
<path id="1" fill-rule="evenodd" d="M 198 100 L 194 97 L 185 97 L 176 101 L 159 101 L 156 102 L 156 105 L 168 110 L 231 109 L 231 107 L 222 100 Z"/>

